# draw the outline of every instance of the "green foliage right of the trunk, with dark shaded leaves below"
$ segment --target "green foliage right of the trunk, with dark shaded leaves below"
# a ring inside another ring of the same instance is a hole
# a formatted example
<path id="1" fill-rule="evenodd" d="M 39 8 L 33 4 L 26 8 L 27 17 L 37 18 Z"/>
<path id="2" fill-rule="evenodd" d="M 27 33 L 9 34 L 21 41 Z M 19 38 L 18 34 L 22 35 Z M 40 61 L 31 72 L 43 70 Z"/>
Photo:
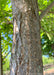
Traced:
<path id="1" fill-rule="evenodd" d="M 44 10 L 53 0 L 38 0 L 39 10 Z M 54 7 L 51 8 L 54 11 Z M 41 12 L 40 12 L 41 13 Z M 54 56 L 54 14 L 48 13 L 41 20 L 41 46 L 43 55 Z"/>

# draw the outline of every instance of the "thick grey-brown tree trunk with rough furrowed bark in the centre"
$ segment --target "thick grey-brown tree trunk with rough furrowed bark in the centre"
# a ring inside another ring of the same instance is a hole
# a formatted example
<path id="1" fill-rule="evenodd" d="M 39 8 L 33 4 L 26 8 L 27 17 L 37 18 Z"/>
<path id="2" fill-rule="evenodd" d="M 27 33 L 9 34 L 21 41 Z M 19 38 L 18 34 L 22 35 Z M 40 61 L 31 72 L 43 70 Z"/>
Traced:
<path id="1" fill-rule="evenodd" d="M 11 0 L 13 46 L 10 75 L 43 75 L 37 0 Z"/>

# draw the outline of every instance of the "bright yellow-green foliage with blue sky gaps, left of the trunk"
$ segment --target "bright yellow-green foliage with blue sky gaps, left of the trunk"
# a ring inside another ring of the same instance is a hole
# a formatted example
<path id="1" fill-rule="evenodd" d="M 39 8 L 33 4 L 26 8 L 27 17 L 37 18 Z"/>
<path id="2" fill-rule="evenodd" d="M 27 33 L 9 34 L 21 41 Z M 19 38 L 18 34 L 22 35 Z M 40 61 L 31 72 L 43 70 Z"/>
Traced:
<path id="1" fill-rule="evenodd" d="M 0 0 L 0 33 L 1 33 L 1 48 L 3 57 L 3 69 L 9 69 L 8 52 L 12 48 L 12 34 L 13 25 L 12 21 L 12 9 L 10 0 Z M 7 55 L 8 54 L 8 55 Z"/>

